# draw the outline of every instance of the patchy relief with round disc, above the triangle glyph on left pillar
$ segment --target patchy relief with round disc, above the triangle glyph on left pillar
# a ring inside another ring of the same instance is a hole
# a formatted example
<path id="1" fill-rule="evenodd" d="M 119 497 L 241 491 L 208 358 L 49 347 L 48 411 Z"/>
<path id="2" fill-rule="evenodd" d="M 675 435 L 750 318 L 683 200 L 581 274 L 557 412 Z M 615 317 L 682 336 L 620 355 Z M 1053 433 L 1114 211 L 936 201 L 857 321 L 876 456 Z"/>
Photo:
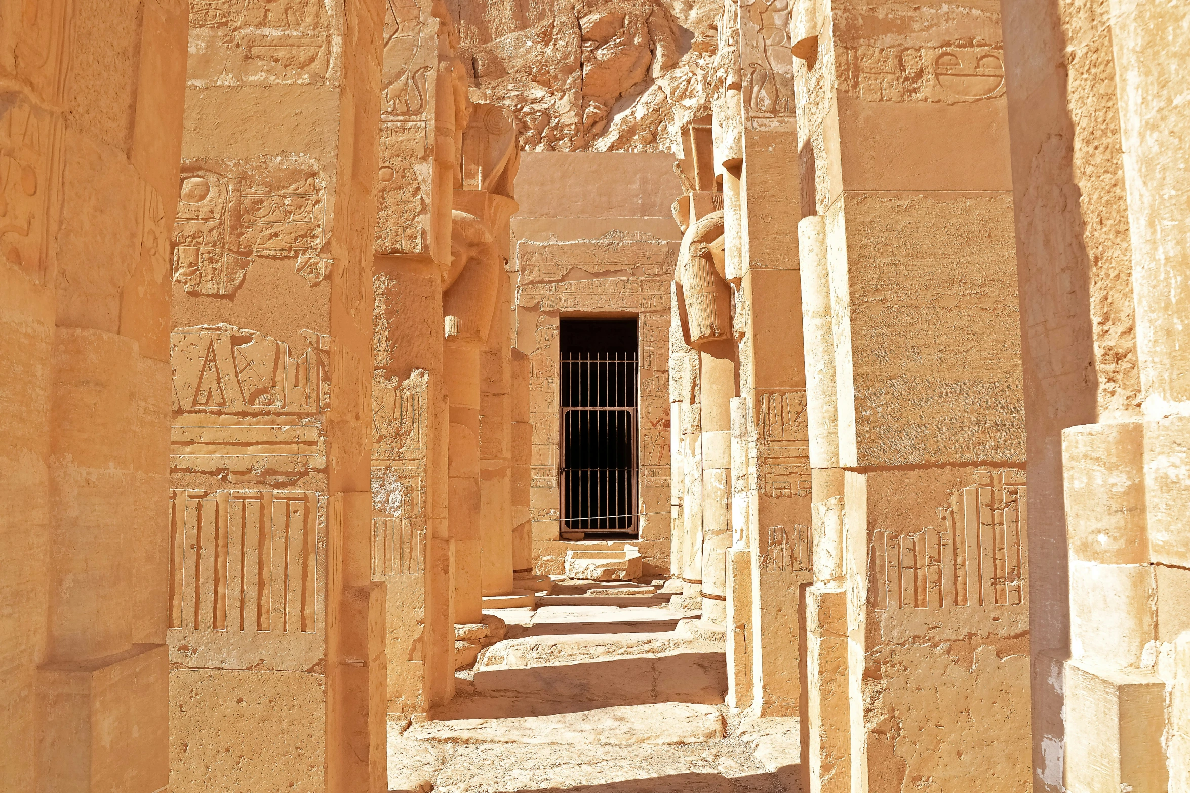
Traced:
<path id="1" fill-rule="evenodd" d="M 190 294 L 231 295 L 253 257 L 298 257 L 298 273 L 321 282 L 331 268 L 319 256 L 325 193 L 311 170 L 278 162 L 240 164 L 231 174 L 183 166 L 174 281 Z"/>

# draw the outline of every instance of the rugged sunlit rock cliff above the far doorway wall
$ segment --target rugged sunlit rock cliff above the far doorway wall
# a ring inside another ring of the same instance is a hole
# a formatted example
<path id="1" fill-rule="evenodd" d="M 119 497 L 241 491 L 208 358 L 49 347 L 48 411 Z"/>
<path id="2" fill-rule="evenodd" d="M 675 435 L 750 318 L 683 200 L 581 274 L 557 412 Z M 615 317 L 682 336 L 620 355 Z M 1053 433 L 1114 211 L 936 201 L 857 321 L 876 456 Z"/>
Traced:
<path id="1" fill-rule="evenodd" d="M 447 0 L 475 99 L 527 151 L 658 151 L 710 111 L 712 0 Z"/>

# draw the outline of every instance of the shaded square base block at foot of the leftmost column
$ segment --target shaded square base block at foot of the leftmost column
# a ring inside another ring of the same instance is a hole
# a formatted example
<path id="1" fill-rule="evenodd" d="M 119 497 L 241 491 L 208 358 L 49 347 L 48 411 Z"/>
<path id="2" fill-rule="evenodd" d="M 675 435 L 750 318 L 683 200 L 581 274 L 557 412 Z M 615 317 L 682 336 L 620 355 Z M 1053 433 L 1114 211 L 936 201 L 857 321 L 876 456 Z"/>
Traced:
<path id="1" fill-rule="evenodd" d="M 164 644 L 37 672 L 38 789 L 155 793 L 170 779 Z"/>

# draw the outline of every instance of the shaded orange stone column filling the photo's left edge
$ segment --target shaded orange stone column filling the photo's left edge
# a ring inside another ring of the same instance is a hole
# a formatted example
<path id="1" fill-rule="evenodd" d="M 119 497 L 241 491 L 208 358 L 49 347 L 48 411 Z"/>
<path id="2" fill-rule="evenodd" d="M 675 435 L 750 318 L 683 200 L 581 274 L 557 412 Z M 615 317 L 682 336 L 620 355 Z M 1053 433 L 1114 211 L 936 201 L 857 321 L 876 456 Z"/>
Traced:
<path id="1" fill-rule="evenodd" d="M 0 17 L 0 788 L 151 793 L 186 5 Z"/>

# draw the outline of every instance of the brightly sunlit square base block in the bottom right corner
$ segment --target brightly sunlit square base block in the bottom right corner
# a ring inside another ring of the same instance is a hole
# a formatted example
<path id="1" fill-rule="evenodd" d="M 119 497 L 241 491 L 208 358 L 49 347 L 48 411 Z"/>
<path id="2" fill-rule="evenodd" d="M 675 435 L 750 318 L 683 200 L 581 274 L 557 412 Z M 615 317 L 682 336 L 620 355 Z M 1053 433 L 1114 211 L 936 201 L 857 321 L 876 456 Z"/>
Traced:
<path id="1" fill-rule="evenodd" d="M 1139 671 L 1065 667 L 1066 788 L 1165 791 L 1165 684 Z"/>

